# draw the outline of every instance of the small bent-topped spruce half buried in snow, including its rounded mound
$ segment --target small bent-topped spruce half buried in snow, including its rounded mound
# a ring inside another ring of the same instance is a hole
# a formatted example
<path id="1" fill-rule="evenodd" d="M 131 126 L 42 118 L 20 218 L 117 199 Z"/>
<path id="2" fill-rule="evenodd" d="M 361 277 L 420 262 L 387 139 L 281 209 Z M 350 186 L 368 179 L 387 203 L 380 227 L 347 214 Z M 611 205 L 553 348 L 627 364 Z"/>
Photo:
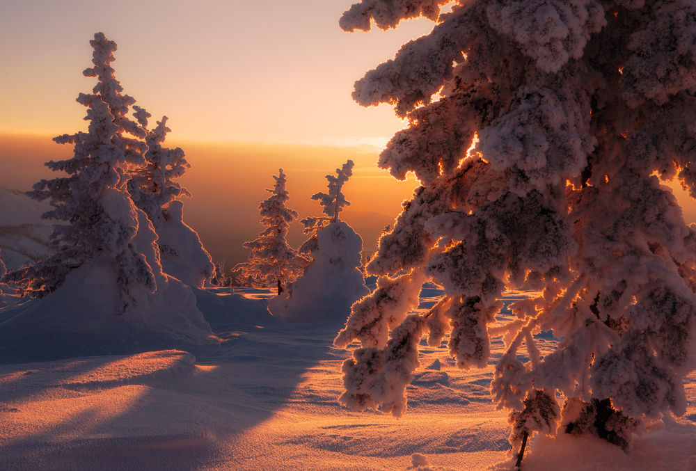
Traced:
<path id="1" fill-rule="evenodd" d="M 301 221 L 310 234 L 303 247 L 309 248 L 312 261 L 285 294 L 269 301 L 274 316 L 294 322 L 345 321 L 351 305 L 370 292 L 360 269 L 363 239 L 338 218 L 350 204 L 341 190 L 353 165 L 348 160 L 335 176 L 326 175 L 329 193 L 312 196 L 328 217 Z"/>

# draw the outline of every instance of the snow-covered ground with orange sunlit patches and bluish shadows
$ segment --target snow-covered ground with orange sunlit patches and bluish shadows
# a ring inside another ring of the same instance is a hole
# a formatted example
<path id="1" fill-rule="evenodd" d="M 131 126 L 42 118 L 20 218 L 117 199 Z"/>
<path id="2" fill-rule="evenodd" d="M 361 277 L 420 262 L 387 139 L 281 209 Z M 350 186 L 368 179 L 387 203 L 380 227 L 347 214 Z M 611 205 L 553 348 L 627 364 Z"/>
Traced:
<path id="1" fill-rule="evenodd" d="M 424 289 L 419 308 L 441 294 Z M 445 343 L 430 347 L 424 338 L 406 413 L 350 412 L 337 402 L 349 356 L 331 346 L 340 322 L 280 321 L 267 312 L 271 296 L 196 290 L 221 342 L 143 337 L 126 353 L 113 340 L 100 343 L 108 337 L 89 324 L 47 339 L 38 318 L 35 338 L 27 324 L 24 338 L 8 342 L 13 324 L 0 321 L 0 469 L 475 471 L 507 459 L 507 413 L 495 410 L 489 392 L 492 362 L 464 372 Z M 505 303 L 524 296 L 508 293 Z M 24 309 L 4 308 L 1 319 Z M 505 310 L 498 321 L 510 319 Z M 542 355 L 555 342 L 538 340 Z M 61 344 L 65 350 L 52 350 Z M 502 340 L 491 349 L 495 360 Z M 81 353 L 59 359 L 68 350 Z M 592 437 L 541 437 L 522 469 L 693 471 L 696 375 L 685 384 L 686 416 L 656 424 L 630 454 Z"/>

